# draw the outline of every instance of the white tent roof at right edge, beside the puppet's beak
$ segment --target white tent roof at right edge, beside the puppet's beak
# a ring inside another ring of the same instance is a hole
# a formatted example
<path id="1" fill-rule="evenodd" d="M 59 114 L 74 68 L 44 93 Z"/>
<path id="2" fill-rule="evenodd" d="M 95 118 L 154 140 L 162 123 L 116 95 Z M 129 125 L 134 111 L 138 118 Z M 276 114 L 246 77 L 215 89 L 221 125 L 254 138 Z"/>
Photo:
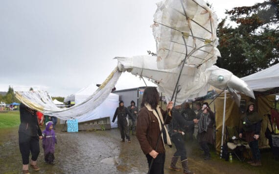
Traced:
<path id="1" fill-rule="evenodd" d="M 241 79 L 254 91 L 267 91 L 279 87 L 279 63 Z"/>

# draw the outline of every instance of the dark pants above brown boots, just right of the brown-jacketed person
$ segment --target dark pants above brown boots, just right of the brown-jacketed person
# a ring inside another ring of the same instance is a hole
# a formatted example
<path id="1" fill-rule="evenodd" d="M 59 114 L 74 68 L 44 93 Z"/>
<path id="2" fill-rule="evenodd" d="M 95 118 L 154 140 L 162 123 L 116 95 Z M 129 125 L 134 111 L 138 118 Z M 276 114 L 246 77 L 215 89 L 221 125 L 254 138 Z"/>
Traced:
<path id="1" fill-rule="evenodd" d="M 171 140 L 176 148 L 176 152 L 173 154 L 173 156 L 180 156 L 181 161 L 187 159 L 187 153 L 182 134 L 179 132 L 173 133 L 171 136 Z"/>

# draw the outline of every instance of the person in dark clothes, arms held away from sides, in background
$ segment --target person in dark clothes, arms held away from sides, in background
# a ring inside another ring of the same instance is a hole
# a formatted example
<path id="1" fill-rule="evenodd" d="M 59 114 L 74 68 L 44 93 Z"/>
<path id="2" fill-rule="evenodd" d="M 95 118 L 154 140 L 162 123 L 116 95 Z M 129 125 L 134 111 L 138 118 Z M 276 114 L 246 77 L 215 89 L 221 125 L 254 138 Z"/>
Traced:
<path id="1" fill-rule="evenodd" d="M 119 107 L 116 108 L 116 112 L 113 118 L 113 123 L 116 120 L 117 116 L 117 125 L 120 130 L 121 134 L 121 141 L 120 142 L 125 142 L 125 136 L 126 139 L 128 139 L 128 143 L 131 143 L 130 139 L 130 132 L 128 131 L 128 122 L 127 122 L 127 114 L 129 115 L 129 119 L 132 119 L 135 121 L 133 115 L 129 112 L 129 110 L 124 106 L 123 101 L 119 101 Z"/>

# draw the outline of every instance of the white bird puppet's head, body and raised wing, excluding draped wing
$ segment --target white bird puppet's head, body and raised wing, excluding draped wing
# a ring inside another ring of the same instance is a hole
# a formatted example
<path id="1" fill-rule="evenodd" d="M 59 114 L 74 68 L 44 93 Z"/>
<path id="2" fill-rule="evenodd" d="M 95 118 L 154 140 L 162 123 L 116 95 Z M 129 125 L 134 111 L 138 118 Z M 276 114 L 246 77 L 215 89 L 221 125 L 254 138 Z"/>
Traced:
<path id="1" fill-rule="evenodd" d="M 183 70 L 177 104 L 206 95 L 210 85 L 219 89 L 229 87 L 234 94 L 232 89 L 255 98 L 243 80 L 213 66 L 217 56 L 221 56 L 216 48 L 217 16 L 203 0 L 165 0 L 157 6 L 152 25 L 157 57 L 116 57 L 120 71 L 151 79 L 170 99 Z"/>

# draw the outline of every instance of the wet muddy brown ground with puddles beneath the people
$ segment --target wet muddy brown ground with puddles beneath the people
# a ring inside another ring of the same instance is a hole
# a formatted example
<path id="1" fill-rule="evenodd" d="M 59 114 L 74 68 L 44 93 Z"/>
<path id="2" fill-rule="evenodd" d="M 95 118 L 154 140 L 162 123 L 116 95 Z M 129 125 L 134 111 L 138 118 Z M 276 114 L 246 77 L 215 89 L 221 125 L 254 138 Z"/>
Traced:
<path id="1" fill-rule="evenodd" d="M 147 161 L 143 155 L 139 142 L 132 136 L 131 144 L 120 143 L 118 129 L 105 131 L 90 131 L 67 133 L 62 132 L 62 126 L 56 128 L 58 144 L 55 149 L 55 164 L 44 162 L 42 141 L 38 165 L 42 174 L 145 174 L 148 171 Z M 18 127 L 0 129 L 0 174 L 19 174 L 22 172 L 22 160 L 18 146 Z M 270 166 L 268 161 L 262 161 L 263 166 L 252 167 L 245 162 L 233 158 L 233 162 L 219 159 L 211 151 L 212 159 L 204 161 L 202 151 L 196 142 L 186 144 L 189 168 L 196 174 L 255 174 L 279 173 L 277 166 L 267 172 L 265 167 Z M 165 174 L 180 174 L 168 169 L 170 159 L 175 148 L 168 148 L 166 152 Z M 181 167 L 181 164 L 178 163 Z"/>

